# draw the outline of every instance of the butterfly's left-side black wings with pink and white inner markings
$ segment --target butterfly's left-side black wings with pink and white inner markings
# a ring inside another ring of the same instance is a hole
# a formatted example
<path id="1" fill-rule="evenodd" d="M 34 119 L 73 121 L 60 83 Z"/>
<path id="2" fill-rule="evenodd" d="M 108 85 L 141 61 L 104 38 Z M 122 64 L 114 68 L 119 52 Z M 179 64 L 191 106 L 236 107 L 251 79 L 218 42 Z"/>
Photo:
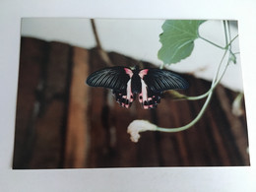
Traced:
<path id="1" fill-rule="evenodd" d="M 123 107 L 130 107 L 133 102 L 131 93 L 132 70 L 126 67 L 116 66 L 101 69 L 92 73 L 87 84 L 92 87 L 112 89 L 116 101 Z"/>

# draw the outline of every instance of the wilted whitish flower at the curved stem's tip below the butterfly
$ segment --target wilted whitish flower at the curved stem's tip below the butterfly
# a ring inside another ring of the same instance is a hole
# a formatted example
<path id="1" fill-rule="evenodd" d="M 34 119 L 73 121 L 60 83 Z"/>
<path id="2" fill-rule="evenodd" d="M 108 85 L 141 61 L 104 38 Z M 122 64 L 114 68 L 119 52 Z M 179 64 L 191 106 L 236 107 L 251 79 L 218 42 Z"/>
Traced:
<path id="1" fill-rule="evenodd" d="M 140 132 L 144 131 L 156 131 L 157 125 L 150 123 L 146 120 L 134 120 L 130 123 L 127 129 L 127 133 L 131 135 L 131 141 L 137 143 L 140 139 Z"/>

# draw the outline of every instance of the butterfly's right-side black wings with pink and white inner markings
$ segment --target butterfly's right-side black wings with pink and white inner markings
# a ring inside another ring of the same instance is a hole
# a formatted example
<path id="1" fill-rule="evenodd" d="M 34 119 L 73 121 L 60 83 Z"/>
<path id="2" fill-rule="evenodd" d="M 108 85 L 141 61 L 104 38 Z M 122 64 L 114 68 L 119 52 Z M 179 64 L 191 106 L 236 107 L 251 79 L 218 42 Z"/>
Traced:
<path id="1" fill-rule="evenodd" d="M 189 86 L 185 79 L 167 70 L 143 69 L 140 71 L 139 76 L 142 82 L 139 101 L 145 109 L 157 107 L 162 92 L 183 90 Z"/>

